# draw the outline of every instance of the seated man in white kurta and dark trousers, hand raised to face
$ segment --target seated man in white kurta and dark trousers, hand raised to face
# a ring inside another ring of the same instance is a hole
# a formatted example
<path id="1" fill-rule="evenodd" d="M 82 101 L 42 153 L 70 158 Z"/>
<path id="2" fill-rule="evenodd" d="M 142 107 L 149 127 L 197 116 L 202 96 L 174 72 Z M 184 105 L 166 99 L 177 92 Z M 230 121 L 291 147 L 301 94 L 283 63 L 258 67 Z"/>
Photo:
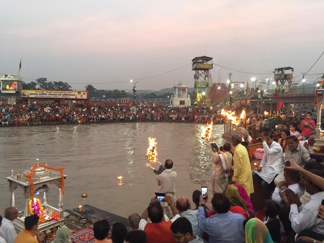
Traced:
<path id="1" fill-rule="evenodd" d="M 265 136 L 259 135 L 264 148 L 264 155 L 260 166 L 252 176 L 257 181 L 265 193 L 266 198 L 270 198 L 272 188 L 270 183 L 281 171 L 284 170 L 284 153 L 280 144 L 273 141 L 272 133 L 266 133 Z"/>

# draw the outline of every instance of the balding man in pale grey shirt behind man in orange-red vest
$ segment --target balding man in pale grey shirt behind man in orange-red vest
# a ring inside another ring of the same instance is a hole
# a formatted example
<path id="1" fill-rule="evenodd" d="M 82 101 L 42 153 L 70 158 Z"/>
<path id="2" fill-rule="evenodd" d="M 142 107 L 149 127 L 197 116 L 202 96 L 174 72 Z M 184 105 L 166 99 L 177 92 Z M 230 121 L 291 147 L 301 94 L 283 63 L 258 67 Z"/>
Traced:
<path id="1" fill-rule="evenodd" d="M 180 212 L 180 216 L 190 221 L 192 226 L 192 234 L 200 237 L 200 229 L 198 228 L 197 215 L 191 210 L 191 203 L 188 198 L 179 197 L 176 202 L 176 208 Z"/>

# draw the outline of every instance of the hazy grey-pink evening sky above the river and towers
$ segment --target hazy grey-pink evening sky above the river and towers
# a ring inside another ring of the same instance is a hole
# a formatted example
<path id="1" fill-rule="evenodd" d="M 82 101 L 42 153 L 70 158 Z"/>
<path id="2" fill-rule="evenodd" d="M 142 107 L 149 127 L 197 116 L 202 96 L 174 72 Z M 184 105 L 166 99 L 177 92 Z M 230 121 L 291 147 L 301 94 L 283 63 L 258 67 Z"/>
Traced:
<path id="1" fill-rule="evenodd" d="M 203 55 L 245 72 L 269 74 L 292 66 L 297 76 L 324 51 L 321 0 L 0 2 L 0 73 L 17 75 L 21 58 L 22 77 L 64 81 L 77 90 L 87 83 L 131 88 L 130 82 L 94 83 L 157 75 Z M 222 68 L 221 81 L 228 72 L 234 81 L 267 76 Z M 323 72 L 324 55 L 309 73 Z M 193 75 L 188 65 L 137 86 L 159 90 L 183 81 L 193 87 Z"/>

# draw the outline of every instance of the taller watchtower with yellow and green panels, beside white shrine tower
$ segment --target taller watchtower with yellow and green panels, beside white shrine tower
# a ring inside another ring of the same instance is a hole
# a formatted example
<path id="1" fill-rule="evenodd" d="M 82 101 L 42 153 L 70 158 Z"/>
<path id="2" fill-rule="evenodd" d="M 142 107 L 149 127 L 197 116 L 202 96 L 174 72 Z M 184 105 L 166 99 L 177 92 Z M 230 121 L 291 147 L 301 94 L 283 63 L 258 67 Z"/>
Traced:
<path id="1" fill-rule="evenodd" d="M 193 89 L 193 102 L 196 105 L 210 105 L 210 89 L 212 87 L 212 77 L 210 69 L 213 68 L 213 58 L 200 56 L 192 59 L 192 70 L 195 85 Z"/>

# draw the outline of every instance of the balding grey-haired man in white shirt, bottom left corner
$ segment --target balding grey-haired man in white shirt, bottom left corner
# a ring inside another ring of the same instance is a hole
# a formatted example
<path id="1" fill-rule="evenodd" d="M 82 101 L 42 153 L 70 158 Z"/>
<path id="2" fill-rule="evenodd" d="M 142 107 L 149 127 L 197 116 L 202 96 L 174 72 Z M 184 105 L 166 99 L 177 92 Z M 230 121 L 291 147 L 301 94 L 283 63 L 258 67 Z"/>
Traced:
<path id="1" fill-rule="evenodd" d="M 12 221 L 18 217 L 18 210 L 15 207 L 9 207 L 5 210 L 5 218 L 2 220 L 0 227 L 0 237 L 4 238 L 7 243 L 14 243 L 17 233 Z"/>

